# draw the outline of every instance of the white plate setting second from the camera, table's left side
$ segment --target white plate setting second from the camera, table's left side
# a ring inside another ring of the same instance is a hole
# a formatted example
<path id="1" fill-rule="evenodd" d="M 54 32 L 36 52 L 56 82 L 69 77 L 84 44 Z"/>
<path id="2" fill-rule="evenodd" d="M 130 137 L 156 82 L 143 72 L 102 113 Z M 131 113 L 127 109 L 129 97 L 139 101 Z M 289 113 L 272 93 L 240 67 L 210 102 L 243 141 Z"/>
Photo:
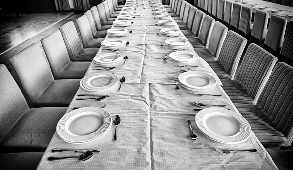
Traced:
<path id="1" fill-rule="evenodd" d="M 80 81 L 80 86 L 87 91 L 99 91 L 109 89 L 115 86 L 118 82 L 118 77 L 112 73 L 94 73 L 85 76 Z"/>

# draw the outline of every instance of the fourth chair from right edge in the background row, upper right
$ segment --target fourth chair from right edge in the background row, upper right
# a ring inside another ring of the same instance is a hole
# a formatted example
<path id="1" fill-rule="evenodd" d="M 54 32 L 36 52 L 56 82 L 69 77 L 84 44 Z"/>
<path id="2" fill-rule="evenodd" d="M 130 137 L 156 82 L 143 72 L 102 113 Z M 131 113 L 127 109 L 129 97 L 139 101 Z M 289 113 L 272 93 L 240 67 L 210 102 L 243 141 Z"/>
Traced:
<path id="1" fill-rule="evenodd" d="M 241 6 L 241 14 L 239 20 L 238 34 L 244 38 L 249 38 L 253 24 L 251 24 L 252 9 L 246 6 Z"/>

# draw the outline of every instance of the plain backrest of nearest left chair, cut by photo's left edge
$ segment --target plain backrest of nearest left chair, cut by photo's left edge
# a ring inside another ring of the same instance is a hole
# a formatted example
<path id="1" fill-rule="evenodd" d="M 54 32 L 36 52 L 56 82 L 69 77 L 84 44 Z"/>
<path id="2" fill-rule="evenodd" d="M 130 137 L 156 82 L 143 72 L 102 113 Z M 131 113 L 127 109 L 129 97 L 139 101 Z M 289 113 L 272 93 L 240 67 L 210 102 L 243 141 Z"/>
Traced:
<path id="1" fill-rule="evenodd" d="M 0 64 L 0 143 L 29 109 L 20 88 L 4 64 Z"/>

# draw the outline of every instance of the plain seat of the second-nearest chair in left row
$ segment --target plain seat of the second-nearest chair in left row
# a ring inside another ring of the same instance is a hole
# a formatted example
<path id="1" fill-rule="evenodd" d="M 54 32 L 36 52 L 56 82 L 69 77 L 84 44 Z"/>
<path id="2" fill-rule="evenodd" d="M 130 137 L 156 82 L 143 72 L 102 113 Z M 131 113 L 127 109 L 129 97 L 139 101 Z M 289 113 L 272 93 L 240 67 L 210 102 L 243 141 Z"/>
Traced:
<path id="1" fill-rule="evenodd" d="M 69 106 L 80 79 L 54 80 L 35 102 L 38 107 Z"/>

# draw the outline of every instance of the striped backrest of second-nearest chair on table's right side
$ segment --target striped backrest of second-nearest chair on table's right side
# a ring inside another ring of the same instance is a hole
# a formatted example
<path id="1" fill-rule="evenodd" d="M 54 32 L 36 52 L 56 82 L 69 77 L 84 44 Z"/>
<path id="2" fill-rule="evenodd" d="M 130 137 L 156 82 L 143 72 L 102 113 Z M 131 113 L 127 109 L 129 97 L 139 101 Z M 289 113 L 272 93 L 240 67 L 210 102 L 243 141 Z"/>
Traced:
<path id="1" fill-rule="evenodd" d="M 277 57 L 258 45 L 249 44 L 239 69 L 236 71 L 235 80 L 254 100 L 254 104 L 256 104 L 263 85 L 267 82 L 277 60 Z"/>

